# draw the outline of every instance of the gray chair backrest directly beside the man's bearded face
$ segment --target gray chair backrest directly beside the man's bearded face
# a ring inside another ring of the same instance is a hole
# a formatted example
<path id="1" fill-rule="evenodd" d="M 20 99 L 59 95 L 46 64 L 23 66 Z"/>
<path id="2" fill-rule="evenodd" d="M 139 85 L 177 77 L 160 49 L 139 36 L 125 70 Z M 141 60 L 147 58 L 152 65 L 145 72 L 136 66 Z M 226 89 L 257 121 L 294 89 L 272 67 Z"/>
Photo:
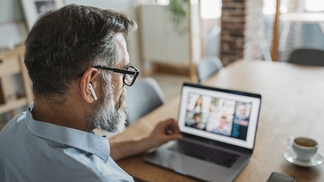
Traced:
<path id="1" fill-rule="evenodd" d="M 166 102 L 158 83 L 150 77 L 136 80 L 132 86 L 127 86 L 126 90 L 129 125 Z"/>

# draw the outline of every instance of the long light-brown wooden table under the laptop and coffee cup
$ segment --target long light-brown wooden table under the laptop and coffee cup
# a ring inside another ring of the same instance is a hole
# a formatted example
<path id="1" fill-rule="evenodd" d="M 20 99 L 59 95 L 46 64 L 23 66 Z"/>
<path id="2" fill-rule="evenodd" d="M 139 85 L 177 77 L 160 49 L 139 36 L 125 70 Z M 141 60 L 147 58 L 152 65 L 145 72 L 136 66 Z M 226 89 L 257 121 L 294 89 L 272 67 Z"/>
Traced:
<path id="1" fill-rule="evenodd" d="M 310 136 L 324 152 L 324 67 L 282 62 L 236 61 L 203 84 L 262 95 L 254 153 L 235 181 L 266 181 L 271 172 L 294 175 L 297 181 L 324 181 L 324 165 L 299 167 L 285 160 L 289 136 Z M 177 118 L 179 97 L 154 110 L 118 138 L 148 133 L 154 124 Z M 132 176 L 146 181 L 194 181 L 144 163 L 142 155 L 118 161 Z"/>

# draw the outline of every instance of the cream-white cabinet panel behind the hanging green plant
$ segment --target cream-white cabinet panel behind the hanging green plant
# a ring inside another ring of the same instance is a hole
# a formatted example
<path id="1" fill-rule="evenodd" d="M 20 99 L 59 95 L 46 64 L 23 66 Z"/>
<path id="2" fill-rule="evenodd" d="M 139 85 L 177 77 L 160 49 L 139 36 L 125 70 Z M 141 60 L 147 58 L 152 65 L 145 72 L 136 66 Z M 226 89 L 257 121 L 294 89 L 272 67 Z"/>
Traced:
<path id="1" fill-rule="evenodd" d="M 144 5 L 140 7 L 140 15 L 145 62 L 189 65 L 189 31 L 182 35 L 174 31 L 167 7 Z M 184 22 L 184 26 L 188 24 L 189 20 Z"/>

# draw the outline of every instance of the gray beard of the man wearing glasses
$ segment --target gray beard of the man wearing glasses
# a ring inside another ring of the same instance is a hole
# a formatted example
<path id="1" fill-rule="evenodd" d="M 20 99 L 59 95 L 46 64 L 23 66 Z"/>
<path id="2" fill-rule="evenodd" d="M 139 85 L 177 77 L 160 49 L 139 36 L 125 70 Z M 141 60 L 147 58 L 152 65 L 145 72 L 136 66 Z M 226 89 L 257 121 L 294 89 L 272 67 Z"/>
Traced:
<path id="1" fill-rule="evenodd" d="M 89 125 L 111 133 L 120 133 L 125 129 L 127 119 L 126 89 L 120 95 L 118 103 L 114 102 L 114 86 L 103 81 L 103 96 L 93 113 L 88 117 Z"/>

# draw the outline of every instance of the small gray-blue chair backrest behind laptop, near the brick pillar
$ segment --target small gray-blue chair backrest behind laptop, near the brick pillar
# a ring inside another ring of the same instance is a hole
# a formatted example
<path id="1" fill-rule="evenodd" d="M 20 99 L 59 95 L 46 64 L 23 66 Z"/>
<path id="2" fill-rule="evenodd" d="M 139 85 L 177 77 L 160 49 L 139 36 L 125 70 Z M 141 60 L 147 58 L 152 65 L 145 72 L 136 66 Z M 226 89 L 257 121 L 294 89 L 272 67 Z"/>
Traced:
<path id="1" fill-rule="evenodd" d="M 222 69 L 223 63 L 217 56 L 206 56 L 197 63 L 198 81 L 204 81 Z"/>

